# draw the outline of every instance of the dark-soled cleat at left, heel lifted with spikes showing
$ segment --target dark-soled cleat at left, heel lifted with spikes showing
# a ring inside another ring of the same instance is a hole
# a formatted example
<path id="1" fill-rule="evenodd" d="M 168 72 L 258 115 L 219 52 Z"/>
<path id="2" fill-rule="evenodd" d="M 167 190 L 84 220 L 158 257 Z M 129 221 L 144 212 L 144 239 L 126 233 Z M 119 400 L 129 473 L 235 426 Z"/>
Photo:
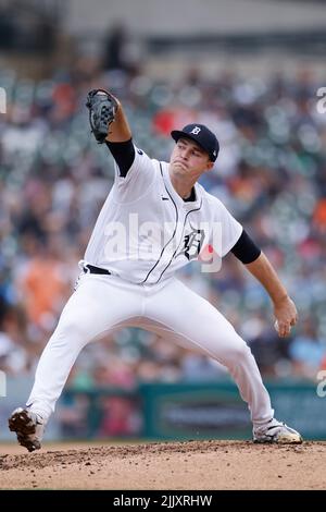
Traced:
<path id="1" fill-rule="evenodd" d="M 45 434 L 46 422 L 36 413 L 28 409 L 15 409 L 10 416 L 9 429 L 16 432 L 18 443 L 27 448 L 29 452 L 41 448 L 41 440 Z"/>

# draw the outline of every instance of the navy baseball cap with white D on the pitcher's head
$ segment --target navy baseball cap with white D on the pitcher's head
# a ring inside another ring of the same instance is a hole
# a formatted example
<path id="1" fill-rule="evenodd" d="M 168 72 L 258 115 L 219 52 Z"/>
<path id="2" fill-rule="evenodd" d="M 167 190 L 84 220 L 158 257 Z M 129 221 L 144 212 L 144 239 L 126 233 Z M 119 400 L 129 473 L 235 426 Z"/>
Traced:
<path id="1" fill-rule="evenodd" d="M 183 130 L 173 130 L 171 136 L 176 143 L 183 137 L 190 138 L 209 154 L 211 161 L 214 162 L 217 158 L 220 151 L 218 141 L 204 124 L 187 124 Z"/>

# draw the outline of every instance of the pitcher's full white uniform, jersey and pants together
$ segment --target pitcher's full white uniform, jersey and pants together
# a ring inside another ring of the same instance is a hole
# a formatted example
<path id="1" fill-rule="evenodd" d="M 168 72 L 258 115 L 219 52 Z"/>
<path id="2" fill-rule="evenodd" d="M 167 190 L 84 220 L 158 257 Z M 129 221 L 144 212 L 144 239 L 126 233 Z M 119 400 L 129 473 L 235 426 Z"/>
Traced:
<path id="1" fill-rule="evenodd" d="M 212 304 L 172 277 L 205 244 L 224 256 L 242 231 L 218 199 L 198 184 L 195 192 L 196 200 L 184 202 L 168 163 L 137 148 L 126 178 L 116 168 L 85 255 L 85 263 L 113 276 L 83 273 L 39 361 L 27 402 L 32 411 L 50 416 L 87 343 L 122 327 L 139 327 L 214 357 L 234 377 L 252 422 L 262 425 L 273 417 L 246 342 Z"/>

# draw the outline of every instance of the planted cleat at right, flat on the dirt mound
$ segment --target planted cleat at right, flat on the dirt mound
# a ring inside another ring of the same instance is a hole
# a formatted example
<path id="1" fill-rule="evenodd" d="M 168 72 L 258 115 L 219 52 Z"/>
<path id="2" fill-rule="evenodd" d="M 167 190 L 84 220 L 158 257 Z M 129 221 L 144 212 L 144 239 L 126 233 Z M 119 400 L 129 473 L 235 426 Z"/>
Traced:
<path id="1" fill-rule="evenodd" d="M 302 437 L 285 423 L 273 418 L 266 425 L 253 429 L 253 442 L 276 442 L 278 444 L 301 444 Z"/>

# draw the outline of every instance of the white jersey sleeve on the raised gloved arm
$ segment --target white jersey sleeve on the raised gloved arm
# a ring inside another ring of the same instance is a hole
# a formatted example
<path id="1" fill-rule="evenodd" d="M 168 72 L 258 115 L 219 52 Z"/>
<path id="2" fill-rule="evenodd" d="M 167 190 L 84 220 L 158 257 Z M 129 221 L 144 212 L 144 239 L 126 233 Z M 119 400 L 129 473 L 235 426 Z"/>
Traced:
<path id="1" fill-rule="evenodd" d="M 126 175 L 122 175 L 120 167 L 114 161 L 115 168 L 115 192 L 121 200 L 139 199 L 149 186 L 152 184 L 155 175 L 153 160 L 137 146 L 135 148 L 135 158 Z"/>

